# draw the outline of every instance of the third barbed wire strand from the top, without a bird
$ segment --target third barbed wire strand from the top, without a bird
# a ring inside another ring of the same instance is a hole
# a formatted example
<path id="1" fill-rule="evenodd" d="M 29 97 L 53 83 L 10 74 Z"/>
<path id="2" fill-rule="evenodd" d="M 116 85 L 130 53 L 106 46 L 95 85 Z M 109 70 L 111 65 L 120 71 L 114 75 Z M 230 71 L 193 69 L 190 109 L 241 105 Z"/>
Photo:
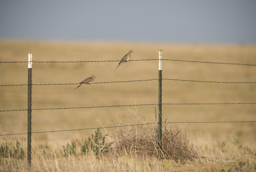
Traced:
<path id="1" fill-rule="evenodd" d="M 162 105 L 246 105 L 246 104 L 256 104 L 253 103 L 162 103 Z M 41 109 L 31 109 L 31 110 L 62 110 L 62 109 L 88 109 L 88 108 L 100 108 L 100 107 L 127 107 L 127 106 L 149 106 L 149 105 L 159 105 L 159 104 L 138 104 L 138 105 L 113 105 L 113 106 L 90 106 L 90 107 L 60 107 L 60 108 L 41 108 Z M 26 111 L 28 109 L 20 110 L 0 110 L 0 112 L 10 112 L 10 111 Z"/>

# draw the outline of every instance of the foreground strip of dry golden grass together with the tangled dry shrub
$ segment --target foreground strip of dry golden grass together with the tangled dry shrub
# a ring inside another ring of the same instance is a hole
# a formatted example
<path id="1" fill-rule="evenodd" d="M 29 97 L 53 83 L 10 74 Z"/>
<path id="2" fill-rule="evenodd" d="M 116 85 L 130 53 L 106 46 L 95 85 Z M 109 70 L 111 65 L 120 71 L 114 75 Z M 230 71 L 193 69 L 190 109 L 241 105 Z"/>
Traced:
<path id="1" fill-rule="evenodd" d="M 201 139 L 199 149 L 188 139 L 185 128 L 178 125 L 163 125 L 163 158 L 157 154 L 157 134 L 154 125 L 146 125 L 146 119 L 138 114 L 117 118 L 117 127 L 108 132 L 104 128 L 111 150 L 102 156 L 90 152 L 82 154 L 84 138 L 77 135 L 73 140 L 76 155 L 64 155 L 64 147 L 52 148 L 52 143 L 38 143 L 33 148 L 32 163 L 28 169 L 26 159 L 0 157 L 1 171 L 255 171 L 255 142 L 245 147 L 239 138 L 232 141 L 213 142 Z M 99 124 L 101 121 L 97 119 Z M 144 124 L 144 125 L 136 125 Z M 135 125 L 122 127 L 122 125 Z M 103 126 L 104 127 L 104 126 Z M 150 141 L 149 141 L 150 140 Z M 41 140 L 42 141 L 42 140 Z M 206 141 L 206 142 L 204 142 Z M 248 143 L 248 142 L 247 142 Z M 9 147 L 12 143 L 9 142 Z M 23 142 L 23 145 L 25 141 Z"/>

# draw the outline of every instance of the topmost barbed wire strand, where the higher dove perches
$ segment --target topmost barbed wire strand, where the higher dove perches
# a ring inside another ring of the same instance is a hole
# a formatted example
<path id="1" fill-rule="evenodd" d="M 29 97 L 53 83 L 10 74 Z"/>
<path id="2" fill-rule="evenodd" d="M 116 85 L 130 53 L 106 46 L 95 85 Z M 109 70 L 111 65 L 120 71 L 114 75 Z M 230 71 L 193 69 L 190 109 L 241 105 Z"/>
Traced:
<path id="1" fill-rule="evenodd" d="M 130 60 L 130 61 L 147 61 L 147 60 L 159 60 L 159 59 L 142 59 L 142 60 Z M 241 64 L 241 63 L 203 62 L 203 61 L 174 60 L 174 59 L 162 59 L 162 60 L 181 61 L 181 62 L 196 62 L 196 63 L 211 63 L 211 64 L 231 64 L 231 65 L 256 66 L 256 64 Z M 118 62 L 118 61 L 120 61 L 120 60 L 57 61 L 57 62 L 33 61 L 33 62 L 35 62 L 35 63 L 80 63 L 80 62 Z M 27 62 L 0 62 L 0 63 L 27 63 Z"/>

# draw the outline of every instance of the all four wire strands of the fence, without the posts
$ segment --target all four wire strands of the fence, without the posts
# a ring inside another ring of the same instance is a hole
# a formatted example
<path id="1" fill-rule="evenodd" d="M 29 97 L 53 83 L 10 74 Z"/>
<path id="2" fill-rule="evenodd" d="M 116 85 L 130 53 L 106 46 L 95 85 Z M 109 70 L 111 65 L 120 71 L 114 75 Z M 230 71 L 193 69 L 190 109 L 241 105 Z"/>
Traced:
<path id="1" fill-rule="evenodd" d="M 159 60 L 159 59 L 142 59 L 142 60 L 130 60 L 130 61 L 147 61 L 147 60 Z M 240 64 L 240 63 L 223 63 L 223 62 L 203 62 L 203 61 L 189 61 L 189 60 L 173 60 L 173 59 L 162 59 L 170 61 L 180 61 L 180 62 L 195 62 L 195 63 L 210 63 L 210 64 L 228 64 L 228 65 L 244 65 L 244 66 L 256 66 L 256 64 Z M 80 62 L 118 62 L 119 60 L 102 60 L 102 61 L 33 61 L 33 63 L 80 63 Z M 27 62 L 0 62 L 0 63 L 27 63 Z M 141 82 L 141 81 L 154 81 L 159 79 L 144 79 L 144 80 L 134 80 L 134 81 L 111 81 L 111 82 L 98 82 L 92 84 L 106 84 L 106 83 L 123 83 L 123 82 Z M 189 81 L 189 82 L 202 82 L 202 83 L 230 83 L 230 84 L 254 84 L 256 82 L 225 82 L 225 81 L 194 81 L 194 80 L 183 80 L 183 79 L 162 79 L 162 80 L 172 80 L 172 81 Z M 77 85 L 79 83 L 52 83 L 52 84 L 32 84 L 33 86 L 46 86 L 46 85 Z M 0 85 L 4 86 L 28 86 L 28 84 L 14 84 L 14 85 Z M 256 104 L 251 103 L 162 103 L 162 105 L 246 105 L 246 104 Z M 41 108 L 41 109 L 31 109 L 31 110 L 68 110 L 68 109 L 84 109 L 84 108 L 104 108 L 104 107 L 127 107 L 127 106 L 146 106 L 146 105 L 159 105 L 159 104 L 136 104 L 136 105 L 113 105 L 113 106 L 91 106 L 91 107 L 63 107 L 63 108 Z M 22 110 L 0 110 L 0 112 L 11 112 L 11 111 L 27 111 L 29 109 Z M 225 121 L 225 122 L 166 122 L 166 123 L 248 123 L 256 121 Z M 162 122 L 165 123 L 165 122 Z M 101 127 L 101 128 L 116 128 L 116 127 L 126 127 L 126 126 L 136 126 L 136 125 L 148 125 L 148 124 L 159 124 L 146 123 L 146 124 L 132 124 L 124 126 L 112 126 L 112 127 Z M 101 129 L 99 128 L 99 129 Z M 92 130 L 97 128 L 84 128 L 76 130 L 58 130 L 58 131 L 45 131 L 45 132 L 31 132 L 31 133 L 48 133 L 48 132 L 66 132 L 66 131 L 78 131 L 78 130 Z M 0 136 L 7 135 L 19 135 L 19 134 L 29 134 L 29 133 L 16 133 L 16 134 L 2 134 Z"/>

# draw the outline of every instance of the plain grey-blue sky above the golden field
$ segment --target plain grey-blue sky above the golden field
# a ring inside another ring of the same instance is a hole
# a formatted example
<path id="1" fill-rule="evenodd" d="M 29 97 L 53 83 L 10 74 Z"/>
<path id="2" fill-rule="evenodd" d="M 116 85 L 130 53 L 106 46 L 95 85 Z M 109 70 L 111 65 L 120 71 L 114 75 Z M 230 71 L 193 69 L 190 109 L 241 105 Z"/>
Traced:
<path id="1" fill-rule="evenodd" d="M 0 39 L 256 43 L 255 0 L 0 0 Z"/>

